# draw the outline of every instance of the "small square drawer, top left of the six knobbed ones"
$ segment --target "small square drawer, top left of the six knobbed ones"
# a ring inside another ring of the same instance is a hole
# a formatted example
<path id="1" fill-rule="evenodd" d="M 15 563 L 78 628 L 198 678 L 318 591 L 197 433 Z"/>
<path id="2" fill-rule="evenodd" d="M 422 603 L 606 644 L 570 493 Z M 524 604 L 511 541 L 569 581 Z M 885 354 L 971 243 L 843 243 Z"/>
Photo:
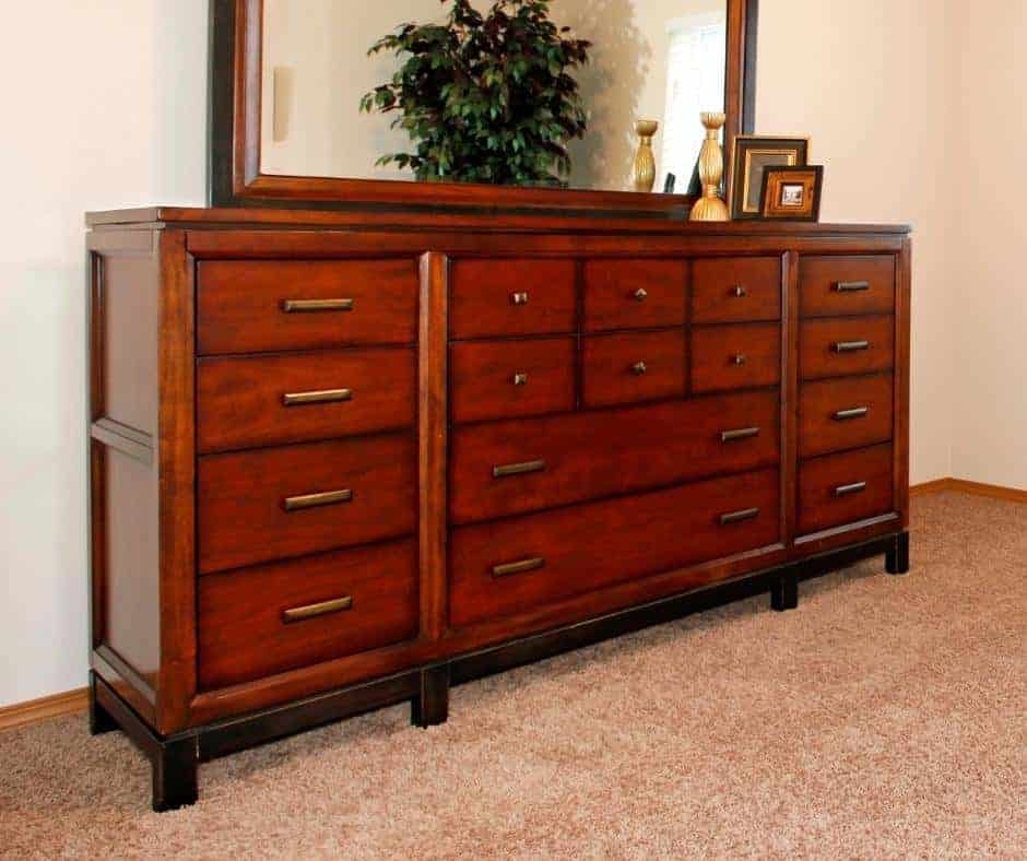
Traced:
<path id="1" fill-rule="evenodd" d="M 572 260 L 457 260 L 450 271 L 455 339 L 574 332 L 577 309 Z"/>

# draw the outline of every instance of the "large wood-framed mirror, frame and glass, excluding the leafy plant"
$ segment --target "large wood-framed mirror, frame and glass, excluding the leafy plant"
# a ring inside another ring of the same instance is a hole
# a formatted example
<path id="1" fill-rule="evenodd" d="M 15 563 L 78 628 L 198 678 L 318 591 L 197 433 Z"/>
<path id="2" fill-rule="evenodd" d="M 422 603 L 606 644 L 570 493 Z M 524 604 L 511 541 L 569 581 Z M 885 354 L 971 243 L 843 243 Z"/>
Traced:
<path id="1" fill-rule="evenodd" d="M 494 0 L 471 0 L 487 13 Z M 467 205 L 680 211 L 704 138 L 700 111 L 751 130 L 757 0 L 551 0 L 550 17 L 591 43 L 578 82 L 586 130 L 559 187 L 417 181 L 396 113 L 362 111 L 403 58 L 368 55 L 408 22 L 445 23 L 451 0 L 212 0 L 211 202 L 214 205 Z M 637 120 L 656 120 L 652 193 L 635 190 Z M 662 193 L 669 174 L 675 193 Z"/>

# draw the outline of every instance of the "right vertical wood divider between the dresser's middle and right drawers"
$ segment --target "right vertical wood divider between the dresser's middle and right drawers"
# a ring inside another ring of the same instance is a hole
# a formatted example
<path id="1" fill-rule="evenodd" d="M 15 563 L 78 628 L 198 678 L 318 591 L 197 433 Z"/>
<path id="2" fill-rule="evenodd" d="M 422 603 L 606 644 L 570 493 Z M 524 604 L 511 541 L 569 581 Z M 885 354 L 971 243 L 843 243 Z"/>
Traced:
<path id="1" fill-rule="evenodd" d="M 781 541 L 795 543 L 799 509 L 799 255 L 781 257 Z"/>

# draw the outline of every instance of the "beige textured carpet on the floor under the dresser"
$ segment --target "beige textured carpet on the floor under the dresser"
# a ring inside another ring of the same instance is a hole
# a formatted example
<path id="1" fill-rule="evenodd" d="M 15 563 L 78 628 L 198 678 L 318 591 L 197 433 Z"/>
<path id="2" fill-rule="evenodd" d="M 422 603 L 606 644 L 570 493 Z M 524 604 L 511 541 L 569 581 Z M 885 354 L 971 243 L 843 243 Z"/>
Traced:
<path id="1" fill-rule="evenodd" d="M 914 503 L 883 561 L 202 766 L 84 719 L 0 735 L 0 857 L 1027 854 L 1027 506 Z"/>

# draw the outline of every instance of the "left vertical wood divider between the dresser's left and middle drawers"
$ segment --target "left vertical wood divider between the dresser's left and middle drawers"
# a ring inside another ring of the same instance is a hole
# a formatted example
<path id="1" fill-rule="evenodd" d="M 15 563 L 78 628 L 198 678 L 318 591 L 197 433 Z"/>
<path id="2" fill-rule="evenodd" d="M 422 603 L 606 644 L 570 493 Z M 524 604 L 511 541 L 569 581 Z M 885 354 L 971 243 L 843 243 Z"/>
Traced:
<path id="1" fill-rule="evenodd" d="M 448 626 L 448 338 L 449 258 L 421 257 L 417 436 L 420 458 L 421 637 L 438 640 Z"/>

